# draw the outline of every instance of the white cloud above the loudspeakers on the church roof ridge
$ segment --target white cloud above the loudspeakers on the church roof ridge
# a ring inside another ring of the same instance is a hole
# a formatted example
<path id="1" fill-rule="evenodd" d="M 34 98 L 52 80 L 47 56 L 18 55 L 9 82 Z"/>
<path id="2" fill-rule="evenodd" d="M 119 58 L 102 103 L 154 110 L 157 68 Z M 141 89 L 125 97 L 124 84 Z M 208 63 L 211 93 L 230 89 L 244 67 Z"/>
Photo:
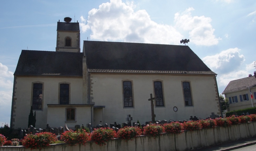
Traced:
<path id="1" fill-rule="evenodd" d="M 196 45 L 211 46 L 218 44 L 221 38 L 216 38 L 214 30 L 210 24 L 211 18 L 205 16 L 191 16 L 194 8 L 189 7 L 183 13 L 175 14 L 176 28 L 189 31 L 190 41 Z"/>

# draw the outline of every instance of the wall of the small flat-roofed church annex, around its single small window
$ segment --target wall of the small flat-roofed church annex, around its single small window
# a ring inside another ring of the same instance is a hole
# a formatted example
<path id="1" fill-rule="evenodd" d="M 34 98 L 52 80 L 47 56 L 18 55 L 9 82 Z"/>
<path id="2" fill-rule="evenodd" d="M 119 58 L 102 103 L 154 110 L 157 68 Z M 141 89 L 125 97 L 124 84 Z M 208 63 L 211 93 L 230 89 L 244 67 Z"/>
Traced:
<path id="1" fill-rule="evenodd" d="M 75 108 L 75 121 L 66 121 L 66 108 Z M 91 111 L 92 110 L 92 111 Z M 67 124 L 68 128 L 74 128 L 75 125 L 91 123 L 93 108 L 91 106 L 81 105 L 63 105 L 63 106 L 48 106 L 47 123 L 50 127 L 64 127 Z"/>

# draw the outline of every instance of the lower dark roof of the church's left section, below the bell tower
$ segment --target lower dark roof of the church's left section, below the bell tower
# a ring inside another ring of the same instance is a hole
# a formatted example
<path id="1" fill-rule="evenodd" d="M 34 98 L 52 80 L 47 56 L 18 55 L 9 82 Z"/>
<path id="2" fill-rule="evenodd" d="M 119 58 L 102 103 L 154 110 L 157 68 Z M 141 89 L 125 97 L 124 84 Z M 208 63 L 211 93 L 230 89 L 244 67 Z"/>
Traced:
<path id="1" fill-rule="evenodd" d="M 83 53 L 22 50 L 14 75 L 82 76 Z"/>

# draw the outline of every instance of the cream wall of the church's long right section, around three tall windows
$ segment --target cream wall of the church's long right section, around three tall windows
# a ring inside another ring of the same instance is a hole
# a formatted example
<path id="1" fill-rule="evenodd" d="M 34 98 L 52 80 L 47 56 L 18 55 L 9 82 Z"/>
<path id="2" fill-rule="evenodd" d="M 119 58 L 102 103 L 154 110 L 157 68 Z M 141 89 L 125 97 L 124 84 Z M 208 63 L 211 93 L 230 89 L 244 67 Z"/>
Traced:
<path id="1" fill-rule="evenodd" d="M 181 76 L 181 75 L 147 75 L 147 74 L 91 74 L 91 96 L 95 105 L 104 108 L 105 123 L 126 122 L 127 114 L 133 121 L 145 124 L 151 121 L 150 93 L 154 97 L 153 81 L 163 81 L 165 107 L 155 107 L 155 120 L 185 120 L 190 116 L 205 119 L 211 112 L 217 114 L 218 101 L 215 89 L 215 75 Z M 133 81 L 134 107 L 123 108 L 122 80 Z M 193 106 L 185 106 L 182 81 L 190 81 Z M 177 112 L 173 107 L 178 108 Z"/>

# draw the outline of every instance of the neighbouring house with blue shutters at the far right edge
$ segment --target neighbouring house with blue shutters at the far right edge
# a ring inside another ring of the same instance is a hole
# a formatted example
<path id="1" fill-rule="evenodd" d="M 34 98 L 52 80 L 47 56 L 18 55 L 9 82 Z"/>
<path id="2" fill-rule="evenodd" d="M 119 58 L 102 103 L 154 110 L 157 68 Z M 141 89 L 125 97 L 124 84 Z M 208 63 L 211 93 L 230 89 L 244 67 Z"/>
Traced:
<path id="1" fill-rule="evenodd" d="M 254 107 L 256 105 L 256 71 L 253 76 L 249 74 L 249 77 L 230 81 L 222 94 L 229 98 L 228 111 Z"/>

